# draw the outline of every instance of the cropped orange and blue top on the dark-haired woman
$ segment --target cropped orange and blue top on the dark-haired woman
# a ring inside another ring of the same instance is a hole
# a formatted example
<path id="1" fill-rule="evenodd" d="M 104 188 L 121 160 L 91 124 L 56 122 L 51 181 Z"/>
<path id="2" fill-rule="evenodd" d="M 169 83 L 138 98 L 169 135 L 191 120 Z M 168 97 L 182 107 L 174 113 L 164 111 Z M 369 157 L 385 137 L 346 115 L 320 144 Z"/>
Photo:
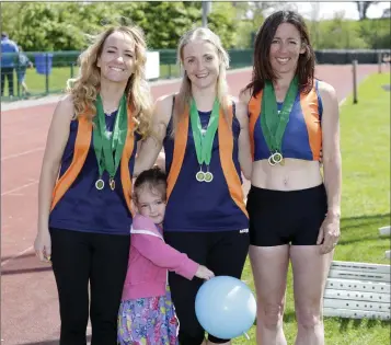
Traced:
<path id="1" fill-rule="evenodd" d="M 249 102 L 250 141 L 254 161 L 268 159 L 271 156 L 261 129 L 262 95 L 263 91 L 256 94 L 255 97 L 252 96 Z M 278 111 L 281 106 L 283 103 L 277 103 Z M 283 157 L 309 161 L 320 159 L 322 149 L 322 111 L 318 80 L 315 80 L 314 87 L 309 93 L 298 93 L 296 97 L 283 137 Z"/>

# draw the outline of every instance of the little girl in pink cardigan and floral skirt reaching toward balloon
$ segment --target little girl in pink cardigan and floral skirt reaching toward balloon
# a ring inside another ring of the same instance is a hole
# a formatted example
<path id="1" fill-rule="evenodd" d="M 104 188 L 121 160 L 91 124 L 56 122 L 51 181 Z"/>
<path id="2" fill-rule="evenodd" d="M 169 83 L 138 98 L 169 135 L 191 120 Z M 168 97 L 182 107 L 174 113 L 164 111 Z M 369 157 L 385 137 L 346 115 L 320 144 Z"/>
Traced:
<path id="1" fill-rule="evenodd" d="M 134 186 L 137 215 L 130 229 L 128 272 L 118 312 L 118 344 L 177 345 L 179 322 L 171 301 L 168 269 L 187 279 L 210 279 L 214 273 L 164 243 L 166 175 L 153 168 Z"/>

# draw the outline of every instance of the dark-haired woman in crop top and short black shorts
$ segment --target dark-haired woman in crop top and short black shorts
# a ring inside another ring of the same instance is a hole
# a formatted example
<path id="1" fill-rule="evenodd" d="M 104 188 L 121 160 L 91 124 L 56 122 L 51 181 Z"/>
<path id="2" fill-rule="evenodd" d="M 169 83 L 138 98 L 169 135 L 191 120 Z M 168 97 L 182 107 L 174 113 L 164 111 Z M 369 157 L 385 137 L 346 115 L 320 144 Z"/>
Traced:
<path id="1" fill-rule="evenodd" d="M 249 110 L 254 161 L 248 211 L 257 343 L 287 344 L 290 260 L 297 344 L 321 345 L 322 294 L 340 235 L 338 104 L 334 89 L 314 79 L 314 53 L 298 13 L 267 18 L 254 48 L 253 78 L 240 97 Z"/>

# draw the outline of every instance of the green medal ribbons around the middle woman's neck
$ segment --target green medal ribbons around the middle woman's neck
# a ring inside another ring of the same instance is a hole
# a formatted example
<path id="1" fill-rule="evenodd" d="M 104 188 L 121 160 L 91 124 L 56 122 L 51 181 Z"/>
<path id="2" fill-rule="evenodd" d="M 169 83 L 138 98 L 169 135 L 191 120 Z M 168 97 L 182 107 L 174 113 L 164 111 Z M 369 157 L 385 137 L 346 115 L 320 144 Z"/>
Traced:
<path id="1" fill-rule="evenodd" d="M 215 100 L 214 108 L 210 114 L 208 128 L 206 130 L 205 136 L 202 134 L 202 125 L 199 120 L 197 105 L 194 99 L 191 102 L 191 122 L 192 122 L 192 130 L 193 138 L 197 153 L 198 164 L 202 165 L 205 163 L 206 165 L 210 164 L 211 158 L 211 147 L 214 145 L 215 135 L 217 131 L 217 126 L 219 124 L 219 111 L 220 104 L 218 100 Z"/>

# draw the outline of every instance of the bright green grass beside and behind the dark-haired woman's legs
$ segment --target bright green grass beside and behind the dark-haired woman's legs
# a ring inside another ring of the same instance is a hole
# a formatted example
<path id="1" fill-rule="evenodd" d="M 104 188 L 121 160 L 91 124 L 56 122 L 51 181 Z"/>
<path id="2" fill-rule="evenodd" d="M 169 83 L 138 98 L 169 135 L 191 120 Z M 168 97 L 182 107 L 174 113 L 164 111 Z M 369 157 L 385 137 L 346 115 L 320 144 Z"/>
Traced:
<path id="1" fill-rule="evenodd" d="M 341 108 L 341 149 L 343 159 L 343 197 L 341 240 L 334 260 L 390 264 L 384 251 L 389 239 L 380 239 L 378 228 L 390 225 L 390 73 L 372 74 L 358 89 L 358 104 L 348 97 Z M 248 261 L 243 280 L 254 291 Z M 292 280 L 289 271 L 284 330 L 288 344 L 295 343 L 296 320 Z M 390 322 L 379 320 L 324 319 L 326 344 L 388 345 Z M 240 337 L 234 345 L 252 345 Z"/>

